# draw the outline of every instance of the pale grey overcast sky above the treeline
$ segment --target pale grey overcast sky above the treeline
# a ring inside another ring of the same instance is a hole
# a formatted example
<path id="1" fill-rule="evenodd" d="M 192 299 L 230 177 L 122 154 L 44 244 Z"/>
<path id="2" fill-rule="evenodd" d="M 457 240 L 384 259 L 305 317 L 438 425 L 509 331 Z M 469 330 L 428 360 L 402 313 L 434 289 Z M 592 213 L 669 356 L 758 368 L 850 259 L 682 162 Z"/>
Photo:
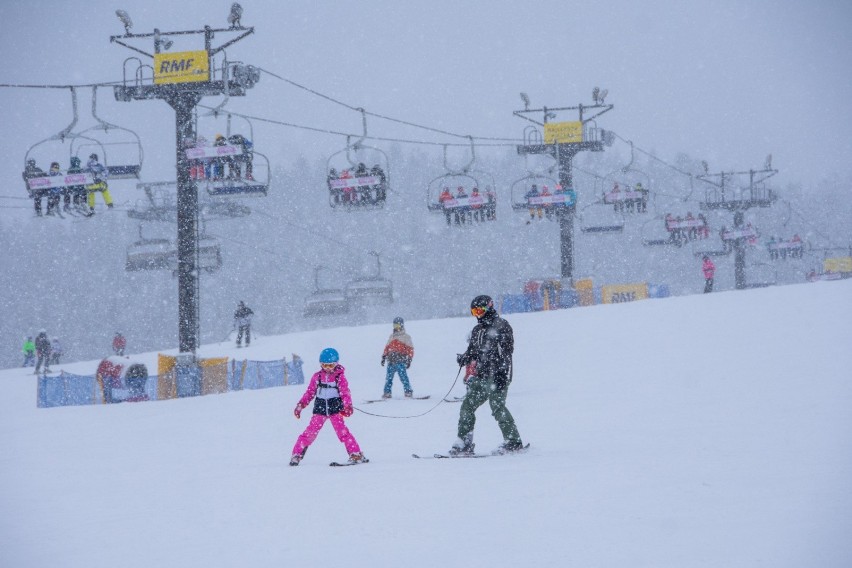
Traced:
<path id="1" fill-rule="evenodd" d="M 521 91 L 533 107 L 575 106 L 590 104 L 591 90 L 599 85 L 609 90 L 607 102 L 615 109 L 598 125 L 665 160 L 684 152 L 707 160 L 714 171 L 739 170 L 761 167 L 772 153 L 780 182 L 806 186 L 826 173 L 848 177 L 852 164 L 848 2 L 242 4 L 242 23 L 256 33 L 231 47 L 230 59 L 373 113 L 458 134 L 519 138 L 524 122 L 512 111 L 523 108 Z M 122 62 L 134 53 L 110 44 L 110 35 L 123 33 L 117 8 L 130 13 L 134 32 L 146 33 L 154 27 L 227 27 L 230 5 L 221 0 L 3 2 L 0 83 L 119 80 Z M 225 40 L 224 34 L 216 38 Z M 89 97 L 81 93 L 81 126 L 92 123 L 86 116 Z M 108 91 L 101 98 L 104 118 L 138 130 L 146 156 L 166 161 L 160 151 L 173 154 L 174 119 L 165 103 L 116 103 Z M 7 161 L 3 181 L 20 185 L 27 148 L 67 125 L 69 99 L 64 91 L 0 89 L 7 133 L 0 141 Z M 361 128 L 357 113 L 269 75 L 229 108 L 337 131 Z M 370 119 L 368 130 L 441 139 L 378 119 Z M 307 155 L 328 155 L 343 143 L 281 127 L 259 128 L 255 136 L 268 148 L 301 148 Z"/>

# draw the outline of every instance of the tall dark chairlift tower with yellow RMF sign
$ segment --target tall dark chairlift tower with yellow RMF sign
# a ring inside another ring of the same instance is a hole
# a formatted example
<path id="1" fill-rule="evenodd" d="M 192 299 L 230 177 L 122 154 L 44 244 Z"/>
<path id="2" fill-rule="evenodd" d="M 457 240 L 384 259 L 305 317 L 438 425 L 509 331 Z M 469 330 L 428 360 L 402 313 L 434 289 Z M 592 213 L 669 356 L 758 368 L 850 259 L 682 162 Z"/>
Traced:
<path id="1" fill-rule="evenodd" d="M 124 10 L 116 15 L 124 24 L 126 33 L 110 36 L 111 43 L 117 43 L 153 60 L 149 68 L 138 57 L 125 60 L 125 70 L 130 60 L 139 62 L 135 77 L 128 80 L 125 73 L 121 85 L 114 87 L 118 101 L 142 101 L 160 99 L 166 101 L 175 111 L 175 156 L 177 163 L 177 249 L 178 249 L 178 335 L 181 360 L 194 364 L 195 352 L 199 341 L 199 304 L 198 304 L 198 188 L 190 178 L 189 160 L 184 150 L 195 145 L 196 133 L 193 111 L 203 97 L 225 95 L 226 97 L 245 96 L 260 79 L 260 71 L 250 65 L 228 63 L 224 59 L 218 74 L 214 67 L 214 57 L 225 48 L 254 33 L 254 28 L 245 28 L 240 24 L 242 8 L 234 3 L 228 16 L 229 28 L 213 29 L 204 26 L 201 30 L 133 34 L 130 17 Z M 219 46 L 213 45 L 219 34 L 230 38 Z M 236 36 L 234 35 L 236 34 Z M 167 52 L 173 41 L 169 37 L 203 36 L 204 49 L 197 51 Z M 154 52 L 145 51 L 130 45 L 137 40 L 153 41 Z M 151 80 L 143 78 L 145 69 L 150 69 Z"/>

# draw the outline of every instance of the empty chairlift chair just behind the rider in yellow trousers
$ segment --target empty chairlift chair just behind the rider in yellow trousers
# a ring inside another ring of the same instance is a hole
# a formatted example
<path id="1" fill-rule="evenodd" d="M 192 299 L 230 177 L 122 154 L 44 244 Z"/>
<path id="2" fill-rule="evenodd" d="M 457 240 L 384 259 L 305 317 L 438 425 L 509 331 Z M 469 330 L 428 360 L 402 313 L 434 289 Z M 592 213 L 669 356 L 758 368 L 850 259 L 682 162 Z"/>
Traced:
<path id="1" fill-rule="evenodd" d="M 100 151 L 103 157 L 102 163 L 107 169 L 109 179 L 139 179 L 144 157 L 139 135 L 129 128 L 111 124 L 101 119 L 98 116 L 97 104 L 98 87 L 94 86 L 92 87 L 92 117 L 98 124 L 80 131 L 80 134 L 87 134 L 90 138 L 97 139 L 98 143 L 93 144 L 82 139 L 75 146 L 74 141 L 72 141 L 72 154 L 86 163 L 83 158 L 92 151 L 96 153 Z M 96 136 L 99 131 L 102 131 L 103 134 Z"/>

